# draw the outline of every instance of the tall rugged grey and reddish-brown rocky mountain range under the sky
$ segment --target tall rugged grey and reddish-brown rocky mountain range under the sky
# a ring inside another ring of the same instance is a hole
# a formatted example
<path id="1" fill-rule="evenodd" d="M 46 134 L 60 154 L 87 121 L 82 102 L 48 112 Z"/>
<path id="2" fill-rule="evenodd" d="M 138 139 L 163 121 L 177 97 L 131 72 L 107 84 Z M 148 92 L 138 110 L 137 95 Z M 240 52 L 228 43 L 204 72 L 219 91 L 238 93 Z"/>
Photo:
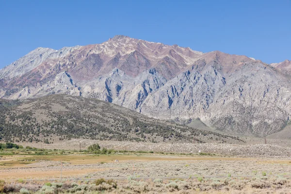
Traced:
<path id="1" fill-rule="evenodd" d="M 291 115 L 290 61 L 265 64 L 117 35 L 60 50 L 37 48 L 0 70 L 0 97 L 97 98 L 146 116 L 265 136 Z"/>

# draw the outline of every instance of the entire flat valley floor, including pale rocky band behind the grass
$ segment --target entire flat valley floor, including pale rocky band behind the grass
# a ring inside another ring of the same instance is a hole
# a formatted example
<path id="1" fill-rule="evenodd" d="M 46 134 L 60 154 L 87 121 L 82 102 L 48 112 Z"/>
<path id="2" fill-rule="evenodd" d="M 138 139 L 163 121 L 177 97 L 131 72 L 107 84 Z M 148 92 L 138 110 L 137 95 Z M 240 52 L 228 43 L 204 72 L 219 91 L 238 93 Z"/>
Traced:
<path id="1" fill-rule="evenodd" d="M 245 145 L 81 139 L 44 145 L 26 143 L 23 146 L 50 148 L 51 152 L 36 155 L 16 150 L 11 155 L 3 154 L 0 179 L 5 181 L 6 190 L 19 193 L 26 189 L 31 194 L 290 193 L 290 144 L 287 140 L 285 147 L 281 145 L 284 142 L 275 140 L 269 140 L 272 144 L 255 144 L 255 140 Z M 135 152 L 97 155 L 73 151 L 93 143 Z"/>

